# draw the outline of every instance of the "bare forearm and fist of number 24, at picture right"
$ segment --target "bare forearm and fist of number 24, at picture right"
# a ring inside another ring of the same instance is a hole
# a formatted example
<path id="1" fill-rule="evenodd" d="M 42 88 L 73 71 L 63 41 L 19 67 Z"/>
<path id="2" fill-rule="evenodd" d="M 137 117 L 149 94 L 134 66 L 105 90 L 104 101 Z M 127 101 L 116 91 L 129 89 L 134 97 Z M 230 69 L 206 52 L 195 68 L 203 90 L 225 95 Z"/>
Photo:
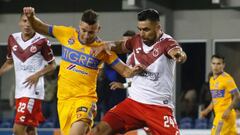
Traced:
<path id="1" fill-rule="evenodd" d="M 174 48 L 168 54 L 176 60 L 177 63 L 184 63 L 187 60 L 186 53 L 181 48 Z"/>

